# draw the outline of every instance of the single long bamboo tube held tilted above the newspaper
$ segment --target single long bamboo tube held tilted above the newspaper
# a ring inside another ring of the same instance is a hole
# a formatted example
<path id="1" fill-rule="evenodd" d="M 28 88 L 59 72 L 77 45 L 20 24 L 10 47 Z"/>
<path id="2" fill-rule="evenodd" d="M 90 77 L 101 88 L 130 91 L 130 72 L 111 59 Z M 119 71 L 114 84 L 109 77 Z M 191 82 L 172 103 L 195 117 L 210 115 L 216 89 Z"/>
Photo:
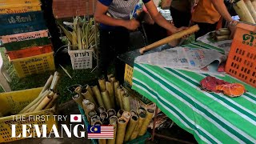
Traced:
<path id="1" fill-rule="evenodd" d="M 178 33 L 175 33 L 175 34 L 170 35 L 169 37 L 163 38 L 163 39 L 159 40 L 158 42 L 154 42 L 148 46 L 142 47 L 139 50 L 139 53 L 143 54 L 147 50 L 152 50 L 155 47 L 162 46 L 168 42 L 172 42 L 172 41 L 182 38 L 186 35 L 193 34 L 194 32 L 196 32 L 198 30 L 199 30 L 198 25 L 191 26 L 190 28 L 188 28 L 186 30 L 179 31 Z"/>

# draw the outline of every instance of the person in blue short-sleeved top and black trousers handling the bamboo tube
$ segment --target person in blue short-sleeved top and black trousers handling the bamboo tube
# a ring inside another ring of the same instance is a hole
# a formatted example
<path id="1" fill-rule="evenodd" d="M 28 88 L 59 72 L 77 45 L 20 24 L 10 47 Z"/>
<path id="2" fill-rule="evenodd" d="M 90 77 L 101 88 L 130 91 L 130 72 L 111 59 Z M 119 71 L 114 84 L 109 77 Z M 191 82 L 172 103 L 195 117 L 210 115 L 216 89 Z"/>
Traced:
<path id="1" fill-rule="evenodd" d="M 171 25 L 162 17 L 152 0 L 143 0 L 146 9 L 154 22 L 158 23 L 173 34 L 186 29 L 177 28 Z M 140 23 L 135 19 L 130 19 L 130 13 L 138 0 L 98 0 L 94 18 L 100 23 L 100 47 L 99 47 L 99 75 L 107 74 L 107 68 L 111 60 L 115 61 L 116 77 L 120 83 L 123 81 L 125 65 L 118 61 L 117 55 L 128 50 L 129 30 L 136 30 Z"/>

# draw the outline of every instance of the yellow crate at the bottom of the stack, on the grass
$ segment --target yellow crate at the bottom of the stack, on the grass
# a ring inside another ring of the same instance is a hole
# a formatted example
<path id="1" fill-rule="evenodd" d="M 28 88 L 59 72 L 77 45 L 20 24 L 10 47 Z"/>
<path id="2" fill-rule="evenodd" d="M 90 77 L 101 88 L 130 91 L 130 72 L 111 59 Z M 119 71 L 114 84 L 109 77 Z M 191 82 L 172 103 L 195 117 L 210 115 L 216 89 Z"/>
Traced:
<path id="1" fill-rule="evenodd" d="M 54 53 L 40 54 L 28 58 L 18 58 L 11 60 L 14 69 L 19 78 L 26 77 L 30 74 L 39 74 L 46 71 L 55 70 Z"/>

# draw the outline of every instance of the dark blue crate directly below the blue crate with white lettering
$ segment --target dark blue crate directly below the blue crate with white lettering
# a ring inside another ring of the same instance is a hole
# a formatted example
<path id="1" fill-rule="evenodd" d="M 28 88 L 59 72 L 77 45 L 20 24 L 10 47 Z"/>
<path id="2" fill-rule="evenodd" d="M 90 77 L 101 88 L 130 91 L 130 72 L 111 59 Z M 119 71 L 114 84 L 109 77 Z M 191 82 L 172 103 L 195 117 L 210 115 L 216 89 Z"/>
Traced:
<path id="1" fill-rule="evenodd" d="M 26 24 L 16 24 L 11 26 L 0 25 L 0 35 L 21 34 L 46 29 L 47 27 L 45 22 L 30 22 Z"/>

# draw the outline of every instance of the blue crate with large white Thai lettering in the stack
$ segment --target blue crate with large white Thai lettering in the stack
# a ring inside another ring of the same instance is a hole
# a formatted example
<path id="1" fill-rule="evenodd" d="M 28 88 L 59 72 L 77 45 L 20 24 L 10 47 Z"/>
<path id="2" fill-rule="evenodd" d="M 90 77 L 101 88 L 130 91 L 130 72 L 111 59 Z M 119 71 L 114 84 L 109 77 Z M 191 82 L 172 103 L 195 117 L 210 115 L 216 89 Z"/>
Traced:
<path id="1" fill-rule="evenodd" d="M 10 26 L 30 22 L 44 22 L 42 11 L 33 11 L 20 14 L 0 14 L 0 25 Z"/>

